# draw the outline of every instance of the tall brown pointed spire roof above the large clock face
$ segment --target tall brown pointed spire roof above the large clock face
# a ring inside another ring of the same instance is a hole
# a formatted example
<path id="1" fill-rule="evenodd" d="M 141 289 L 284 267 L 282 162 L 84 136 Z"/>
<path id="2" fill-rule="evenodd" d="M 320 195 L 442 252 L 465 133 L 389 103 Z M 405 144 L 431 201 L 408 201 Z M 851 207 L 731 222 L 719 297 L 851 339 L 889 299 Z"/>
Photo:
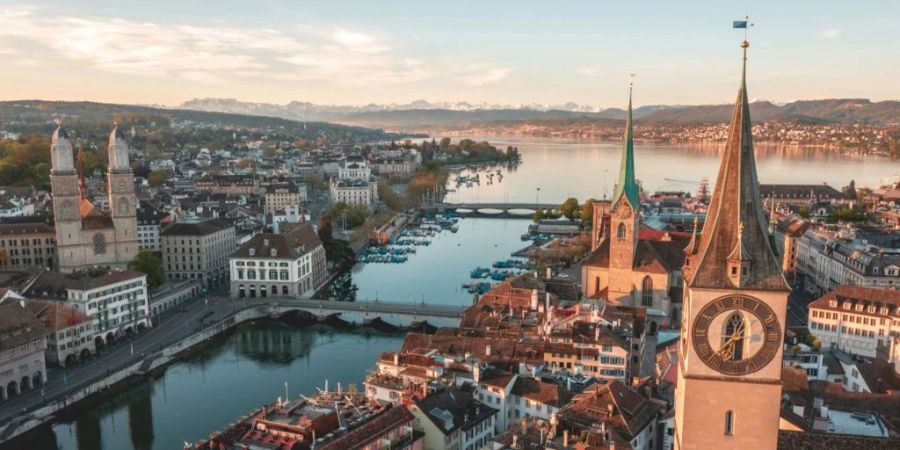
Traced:
<path id="1" fill-rule="evenodd" d="M 709 213 L 700 235 L 697 256 L 686 268 L 690 286 L 731 289 L 787 290 L 772 247 L 763 216 L 762 197 L 756 175 L 753 136 L 750 124 L 750 102 L 747 98 L 747 46 L 737 101 L 728 127 L 725 153 L 716 178 L 716 188 Z M 729 279 L 729 256 L 740 253 L 749 261 L 749 275 L 740 286 Z"/>

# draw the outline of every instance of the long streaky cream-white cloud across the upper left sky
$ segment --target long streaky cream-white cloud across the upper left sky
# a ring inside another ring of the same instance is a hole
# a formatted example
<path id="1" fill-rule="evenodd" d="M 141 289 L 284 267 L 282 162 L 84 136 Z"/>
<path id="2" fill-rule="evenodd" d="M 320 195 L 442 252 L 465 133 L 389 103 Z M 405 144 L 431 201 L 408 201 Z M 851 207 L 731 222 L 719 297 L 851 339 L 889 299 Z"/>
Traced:
<path id="1" fill-rule="evenodd" d="M 113 73 L 215 82 L 272 76 L 346 85 L 402 83 L 436 76 L 397 56 L 385 39 L 359 30 L 301 25 L 291 32 L 196 26 L 108 17 L 0 10 L 0 38 L 42 47 Z M 6 53 L 14 55 L 12 53 Z"/>

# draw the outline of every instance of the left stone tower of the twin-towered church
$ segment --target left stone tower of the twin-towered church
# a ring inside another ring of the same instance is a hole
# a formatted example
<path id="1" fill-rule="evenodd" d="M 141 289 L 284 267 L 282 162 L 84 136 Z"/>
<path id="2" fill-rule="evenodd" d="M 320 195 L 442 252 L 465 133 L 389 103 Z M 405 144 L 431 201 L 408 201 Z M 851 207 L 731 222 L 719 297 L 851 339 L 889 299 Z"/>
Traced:
<path id="1" fill-rule="evenodd" d="M 50 190 L 53 192 L 57 263 L 61 269 L 81 265 L 84 261 L 79 210 L 81 192 L 72 144 L 68 133 L 59 124 L 50 141 Z"/>

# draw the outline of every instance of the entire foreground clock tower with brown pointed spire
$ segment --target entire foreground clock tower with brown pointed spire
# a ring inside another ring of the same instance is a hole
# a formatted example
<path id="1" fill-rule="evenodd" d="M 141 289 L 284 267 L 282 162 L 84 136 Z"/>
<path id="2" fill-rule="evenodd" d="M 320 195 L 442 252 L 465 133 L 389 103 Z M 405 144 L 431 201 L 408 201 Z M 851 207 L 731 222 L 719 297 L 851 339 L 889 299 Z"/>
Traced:
<path id="1" fill-rule="evenodd" d="M 790 292 L 769 245 L 756 175 L 747 47 L 702 234 L 685 250 L 687 292 L 675 448 L 774 449 Z"/>

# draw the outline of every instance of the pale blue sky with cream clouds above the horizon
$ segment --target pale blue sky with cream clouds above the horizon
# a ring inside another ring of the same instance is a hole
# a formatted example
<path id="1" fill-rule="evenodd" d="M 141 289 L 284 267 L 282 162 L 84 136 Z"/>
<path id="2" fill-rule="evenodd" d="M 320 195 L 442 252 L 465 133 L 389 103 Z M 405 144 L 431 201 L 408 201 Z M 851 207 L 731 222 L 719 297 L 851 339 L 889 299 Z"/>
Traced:
<path id="1" fill-rule="evenodd" d="M 752 8 L 752 9 L 751 9 Z M 900 99 L 900 2 L 0 0 L 0 100 Z"/>

